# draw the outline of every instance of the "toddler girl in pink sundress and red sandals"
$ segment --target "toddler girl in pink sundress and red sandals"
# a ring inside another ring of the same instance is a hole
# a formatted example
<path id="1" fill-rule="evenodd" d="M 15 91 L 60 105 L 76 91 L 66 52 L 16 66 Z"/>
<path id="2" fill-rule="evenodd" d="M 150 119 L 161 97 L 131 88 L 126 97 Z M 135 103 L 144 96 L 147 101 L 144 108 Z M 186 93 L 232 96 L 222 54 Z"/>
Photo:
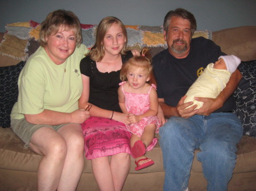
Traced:
<path id="1" fill-rule="evenodd" d="M 156 116 L 159 105 L 151 57 L 146 48 L 141 53 L 142 56 L 130 58 L 122 67 L 120 78 L 124 82 L 118 88 L 119 105 L 122 112 L 128 114 L 130 124 L 126 126 L 133 133 L 130 139 L 131 156 L 135 158 L 137 171 L 154 164 L 144 154 L 155 146 L 155 133 L 160 128 Z"/>

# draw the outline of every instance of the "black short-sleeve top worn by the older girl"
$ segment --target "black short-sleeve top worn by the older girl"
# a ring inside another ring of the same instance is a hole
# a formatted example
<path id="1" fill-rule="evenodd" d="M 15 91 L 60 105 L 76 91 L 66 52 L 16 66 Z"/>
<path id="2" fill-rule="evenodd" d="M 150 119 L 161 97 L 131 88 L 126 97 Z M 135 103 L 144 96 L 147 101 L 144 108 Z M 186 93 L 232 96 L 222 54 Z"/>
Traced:
<path id="1" fill-rule="evenodd" d="M 122 55 L 124 64 L 129 58 L 133 57 L 131 51 Z M 121 82 L 120 70 L 110 73 L 98 71 L 96 62 L 90 57 L 85 57 L 80 62 L 81 74 L 90 78 L 89 103 L 102 109 L 122 112 L 118 104 L 118 87 Z"/>

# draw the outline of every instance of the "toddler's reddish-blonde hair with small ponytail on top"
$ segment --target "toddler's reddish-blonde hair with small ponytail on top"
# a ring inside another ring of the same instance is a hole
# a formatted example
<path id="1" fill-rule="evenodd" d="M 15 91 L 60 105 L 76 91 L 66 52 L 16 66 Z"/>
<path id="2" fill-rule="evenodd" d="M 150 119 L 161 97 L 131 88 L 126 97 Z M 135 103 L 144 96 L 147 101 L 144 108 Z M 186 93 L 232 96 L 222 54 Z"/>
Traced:
<path id="1" fill-rule="evenodd" d="M 141 56 L 134 56 L 130 58 L 123 66 L 120 71 L 120 79 L 122 81 L 127 81 L 127 71 L 129 70 L 130 66 L 140 67 L 146 71 L 150 80 L 148 83 L 155 84 L 156 80 L 153 73 L 153 67 L 151 65 L 151 54 L 149 49 L 143 48 L 141 50 Z"/>

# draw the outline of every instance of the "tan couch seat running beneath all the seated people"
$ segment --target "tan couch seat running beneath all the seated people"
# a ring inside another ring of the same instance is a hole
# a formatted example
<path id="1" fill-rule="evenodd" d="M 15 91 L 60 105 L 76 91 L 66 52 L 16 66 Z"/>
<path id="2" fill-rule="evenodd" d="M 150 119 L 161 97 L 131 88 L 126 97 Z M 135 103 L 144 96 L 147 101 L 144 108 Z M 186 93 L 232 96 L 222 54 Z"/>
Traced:
<path id="1" fill-rule="evenodd" d="M 29 148 L 23 147 L 24 143 L 10 128 L 0 128 L 0 137 L 0 168 L 30 172 L 37 171 L 42 156 L 31 151 Z M 159 138 L 158 134 L 157 137 Z M 234 173 L 256 171 L 256 139 L 243 136 L 237 148 L 237 165 Z M 199 151 L 195 153 L 197 152 Z M 135 171 L 134 159 L 132 158 L 130 173 L 164 172 L 162 150 L 159 144 L 152 151 L 147 152 L 146 156 L 154 160 L 155 164 L 141 171 Z M 193 161 L 192 171 L 203 172 L 201 163 L 198 160 Z M 90 160 L 85 160 L 84 172 L 92 173 Z"/>

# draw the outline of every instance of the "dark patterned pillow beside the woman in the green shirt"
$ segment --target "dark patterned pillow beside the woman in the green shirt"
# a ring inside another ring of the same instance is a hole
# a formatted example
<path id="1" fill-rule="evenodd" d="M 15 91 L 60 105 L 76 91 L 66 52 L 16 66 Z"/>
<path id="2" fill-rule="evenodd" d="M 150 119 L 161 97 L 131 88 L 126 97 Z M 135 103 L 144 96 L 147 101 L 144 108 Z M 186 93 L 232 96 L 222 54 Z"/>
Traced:
<path id="1" fill-rule="evenodd" d="M 10 114 L 18 98 L 18 78 L 25 62 L 0 67 L 0 126 L 10 127 Z"/>

